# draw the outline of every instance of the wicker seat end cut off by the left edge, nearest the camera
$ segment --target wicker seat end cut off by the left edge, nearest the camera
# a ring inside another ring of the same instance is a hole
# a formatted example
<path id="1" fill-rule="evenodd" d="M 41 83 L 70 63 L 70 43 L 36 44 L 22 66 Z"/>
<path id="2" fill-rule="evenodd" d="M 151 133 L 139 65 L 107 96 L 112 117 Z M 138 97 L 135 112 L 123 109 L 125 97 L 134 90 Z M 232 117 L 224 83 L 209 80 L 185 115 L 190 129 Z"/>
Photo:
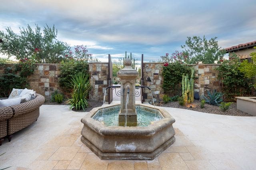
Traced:
<path id="1" fill-rule="evenodd" d="M 0 146 L 7 135 L 7 120 L 13 115 L 12 107 L 0 107 Z"/>

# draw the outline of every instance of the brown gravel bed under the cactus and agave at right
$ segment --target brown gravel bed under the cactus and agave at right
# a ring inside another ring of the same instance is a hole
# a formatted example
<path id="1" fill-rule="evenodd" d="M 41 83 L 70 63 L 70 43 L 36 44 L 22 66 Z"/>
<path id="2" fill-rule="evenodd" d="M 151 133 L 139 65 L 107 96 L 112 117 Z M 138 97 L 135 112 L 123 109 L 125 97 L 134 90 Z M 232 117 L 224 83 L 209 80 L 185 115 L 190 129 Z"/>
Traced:
<path id="1" fill-rule="evenodd" d="M 200 108 L 200 101 L 199 100 L 194 100 L 194 102 L 192 104 L 188 104 L 193 105 L 192 108 L 190 107 L 186 107 L 186 106 L 180 106 L 179 102 L 169 102 L 167 104 L 164 103 L 158 103 L 156 104 L 156 106 L 162 106 L 162 107 L 175 107 L 175 108 L 180 108 L 180 109 L 188 109 L 188 110 L 194 110 L 194 111 L 200 111 L 200 112 L 204 112 L 204 113 L 213 113 L 213 114 L 218 114 L 218 115 L 232 115 L 232 116 L 252 116 L 248 113 L 245 113 L 243 111 L 240 111 L 238 109 L 236 109 L 236 102 L 234 102 L 227 111 L 223 112 L 220 110 L 219 106 L 213 106 L 213 105 L 209 105 L 209 104 L 205 104 L 204 108 L 201 109 Z"/>

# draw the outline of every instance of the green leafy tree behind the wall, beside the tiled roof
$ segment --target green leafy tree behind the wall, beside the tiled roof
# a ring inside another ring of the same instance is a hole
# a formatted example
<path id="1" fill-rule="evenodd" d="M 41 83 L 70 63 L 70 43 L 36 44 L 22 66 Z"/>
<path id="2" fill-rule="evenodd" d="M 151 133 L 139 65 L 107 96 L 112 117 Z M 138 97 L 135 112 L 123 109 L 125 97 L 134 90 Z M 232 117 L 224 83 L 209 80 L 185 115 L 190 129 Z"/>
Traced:
<path id="1" fill-rule="evenodd" d="M 185 45 L 182 45 L 182 54 L 186 57 L 187 64 L 197 64 L 200 61 L 203 64 L 213 64 L 215 61 L 222 59 L 226 51 L 221 50 L 218 46 L 217 37 L 209 41 L 205 38 L 193 36 L 187 37 Z"/>

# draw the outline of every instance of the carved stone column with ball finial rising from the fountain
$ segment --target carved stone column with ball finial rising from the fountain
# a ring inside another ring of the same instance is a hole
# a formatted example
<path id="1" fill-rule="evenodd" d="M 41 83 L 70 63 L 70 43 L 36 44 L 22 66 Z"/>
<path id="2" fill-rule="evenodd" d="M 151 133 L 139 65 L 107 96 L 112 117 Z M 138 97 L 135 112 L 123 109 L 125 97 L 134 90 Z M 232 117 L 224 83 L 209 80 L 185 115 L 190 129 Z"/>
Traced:
<path id="1" fill-rule="evenodd" d="M 135 109 L 135 82 L 139 73 L 132 68 L 132 60 L 124 60 L 124 68 L 117 72 L 121 82 L 121 109 L 119 112 L 119 125 L 137 126 L 137 113 Z"/>

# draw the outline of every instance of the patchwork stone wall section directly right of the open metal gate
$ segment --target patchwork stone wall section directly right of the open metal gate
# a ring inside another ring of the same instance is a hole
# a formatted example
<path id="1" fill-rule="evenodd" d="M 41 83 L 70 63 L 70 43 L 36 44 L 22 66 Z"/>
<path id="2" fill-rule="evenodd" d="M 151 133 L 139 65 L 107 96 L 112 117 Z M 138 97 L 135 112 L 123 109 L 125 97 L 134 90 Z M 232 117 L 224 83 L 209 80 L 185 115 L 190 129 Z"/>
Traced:
<path id="1" fill-rule="evenodd" d="M 162 88 L 163 84 L 163 63 L 143 63 L 143 79 L 144 79 L 144 86 L 148 86 L 151 91 L 152 95 L 156 100 L 162 100 L 164 96 L 164 90 Z M 144 100 L 145 102 L 152 101 L 152 95 L 150 90 L 144 90 Z"/>

